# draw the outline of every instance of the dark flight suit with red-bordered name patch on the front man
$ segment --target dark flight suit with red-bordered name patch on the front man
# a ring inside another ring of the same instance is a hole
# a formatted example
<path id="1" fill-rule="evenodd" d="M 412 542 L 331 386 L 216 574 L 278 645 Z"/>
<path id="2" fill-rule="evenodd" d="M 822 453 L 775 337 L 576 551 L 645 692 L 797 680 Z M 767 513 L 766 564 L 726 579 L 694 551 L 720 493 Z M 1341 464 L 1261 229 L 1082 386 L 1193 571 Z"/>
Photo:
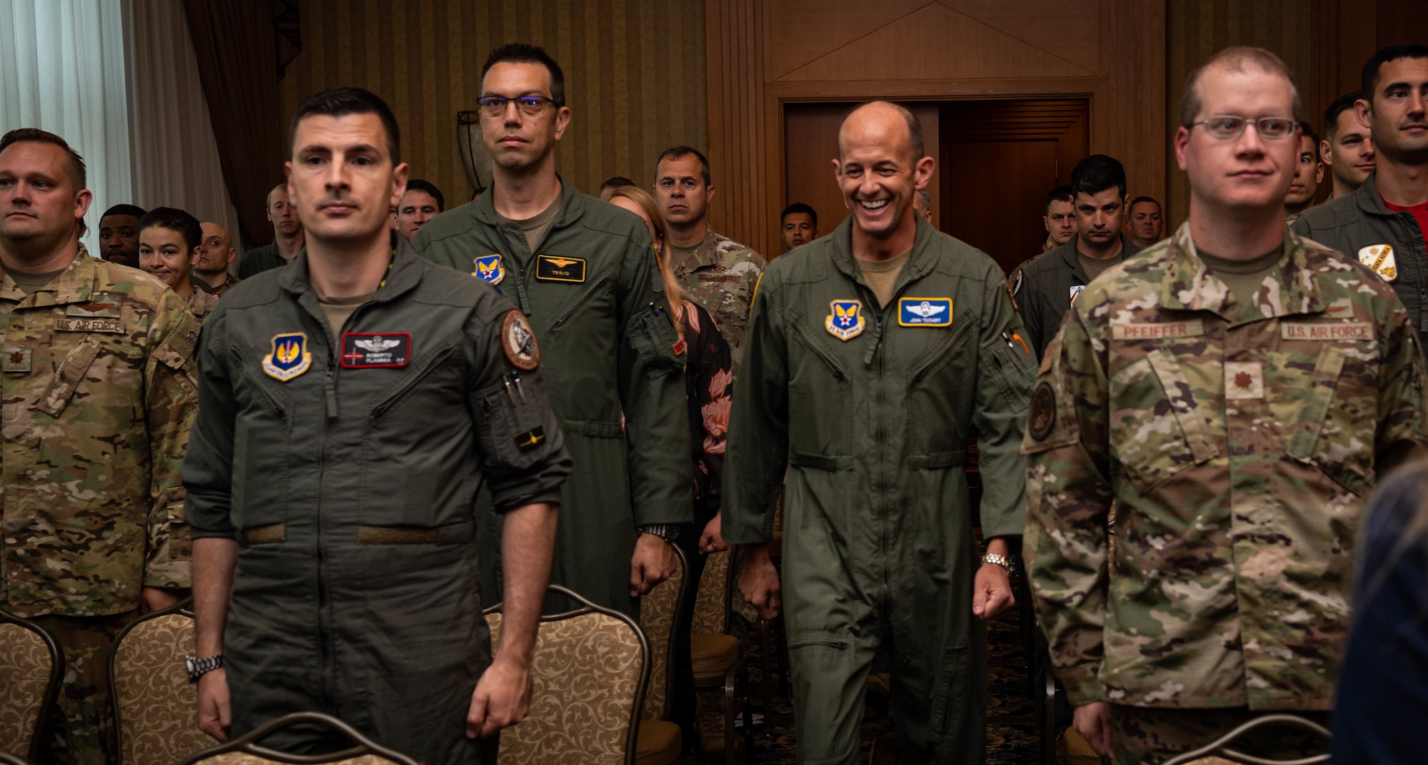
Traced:
<path id="1" fill-rule="evenodd" d="M 558 501 L 541 370 L 503 348 L 507 300 L 406 243 L 341 333 L 307 268 L 304 251 L 234 287 L 198 341 L 186 511 L 194 538 L 238 542 L 233 734 L 317 709 L 427 765 L 491 764 L 466 738 L 491 662 L 473 512 L 483 484 L 498 511 Z"/>

